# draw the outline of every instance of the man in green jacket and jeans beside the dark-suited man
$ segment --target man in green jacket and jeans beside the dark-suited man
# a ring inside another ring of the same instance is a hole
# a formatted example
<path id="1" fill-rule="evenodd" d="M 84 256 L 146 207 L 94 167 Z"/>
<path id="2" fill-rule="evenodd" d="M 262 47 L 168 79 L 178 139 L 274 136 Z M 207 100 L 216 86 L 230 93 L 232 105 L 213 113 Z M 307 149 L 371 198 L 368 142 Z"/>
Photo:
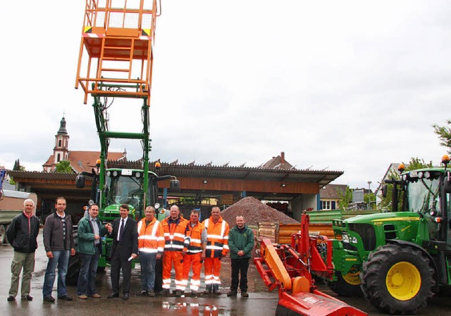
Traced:
<path id="1" fill-rule="evenodd" d="M 80 274 L 78 274 L 77 297 L 85 300 L 88 297 L 100 298 L 95 289 L 97 263 L 101 254 L 101 236 L 111 232 L 111 224 L 105 226 L 97 218 L 99 206 L 89 206 L 88 214 L 78 222 L 78 256 L 80 257 Z"/>

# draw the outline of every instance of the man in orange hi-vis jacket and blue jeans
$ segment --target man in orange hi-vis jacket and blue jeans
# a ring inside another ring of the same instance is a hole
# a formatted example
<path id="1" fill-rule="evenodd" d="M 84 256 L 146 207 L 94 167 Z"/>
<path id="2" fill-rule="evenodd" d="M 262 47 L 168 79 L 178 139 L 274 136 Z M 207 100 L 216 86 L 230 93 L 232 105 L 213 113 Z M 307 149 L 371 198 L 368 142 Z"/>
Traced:
<path id="1" fill-rule="evenodd" d="M 155 218 L 155 208 L 147 206 L 138 222 L 138 251 L 141 264 L 141 295 L 155 296 L 155 265 L 164 250 L 163 226 Z"/>

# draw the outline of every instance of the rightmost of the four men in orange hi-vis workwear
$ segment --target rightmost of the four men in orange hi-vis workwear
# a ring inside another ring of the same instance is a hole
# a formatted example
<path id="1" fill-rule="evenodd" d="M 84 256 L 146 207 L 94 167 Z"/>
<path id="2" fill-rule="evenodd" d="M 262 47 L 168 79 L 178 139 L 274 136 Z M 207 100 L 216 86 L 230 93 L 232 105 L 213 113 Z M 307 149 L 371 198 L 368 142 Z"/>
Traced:
<path id="1" fill-rule="evenodd" d="M 221 258 L 226 257 L 228 253 L 228 232 L 229 227 L 220 215 L 221 210 L 214 206 L 211 209 L 211 216 L 204 220 L 206 229 L 206 247 L 205 252 L 205 285 L 204 295 L 213 293 L 216 296 L 221 295 L 219 284 L 221 279 Z"/>

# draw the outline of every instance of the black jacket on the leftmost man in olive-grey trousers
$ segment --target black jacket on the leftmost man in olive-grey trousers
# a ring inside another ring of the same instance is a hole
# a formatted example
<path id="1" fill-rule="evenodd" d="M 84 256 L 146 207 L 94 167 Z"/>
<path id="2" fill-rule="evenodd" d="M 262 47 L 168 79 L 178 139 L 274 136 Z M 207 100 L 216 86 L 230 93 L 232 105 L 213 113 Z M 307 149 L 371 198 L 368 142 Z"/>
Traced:
<path id="1" fill-rule="evenodd" d="M 29 225 L 30 222 L 30 225 Z M 35 215 L 30 217 L 24 213 L 17 215 L 6 230 L 6 237 L 18 253 L 34 253 L 37 248 L 37 234 L 39 233 L 39 220 Z"/>

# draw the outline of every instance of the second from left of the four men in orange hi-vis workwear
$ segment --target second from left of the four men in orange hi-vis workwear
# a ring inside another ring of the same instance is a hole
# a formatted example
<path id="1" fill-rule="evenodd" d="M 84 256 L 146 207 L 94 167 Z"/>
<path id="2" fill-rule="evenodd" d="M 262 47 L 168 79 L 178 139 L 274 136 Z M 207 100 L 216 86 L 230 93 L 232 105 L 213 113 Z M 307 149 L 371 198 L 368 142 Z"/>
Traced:
<path id="1" fill-rule="evenodd" d="M 171 216 L 161 221 L 164 233 L 163 290 L 160 295 L 168 296 L 171 289 L 171 269 L 175 270 L 175 296 L 182 296 L 186 284 L 183 282 L 183 255 L 187 252 L 189 240 L 186 236 L 188 221 L 180 216 L 178 206 L 171 206 Z"/>

